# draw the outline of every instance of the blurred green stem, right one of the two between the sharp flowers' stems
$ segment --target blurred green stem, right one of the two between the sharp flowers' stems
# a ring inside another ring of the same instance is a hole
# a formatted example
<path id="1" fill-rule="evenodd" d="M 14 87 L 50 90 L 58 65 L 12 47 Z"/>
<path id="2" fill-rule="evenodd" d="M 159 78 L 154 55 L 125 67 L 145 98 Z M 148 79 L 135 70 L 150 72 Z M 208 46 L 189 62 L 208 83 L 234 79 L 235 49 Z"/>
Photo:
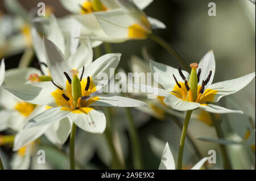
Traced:
<path id="1" fill-rule="evenodd" d="M 139 143 L 139 137 L 137 129 L 134 125 L 133 115 L 131 115 L 131 110 L 129 107 L 125 108 L 126 116 L 128 120 L 128 132 L 131 140 L 131 146 L 133 150 L 133 164 L 134 169 L 142 169 L 142 154 L 141 154 L 141 144 Z"/>

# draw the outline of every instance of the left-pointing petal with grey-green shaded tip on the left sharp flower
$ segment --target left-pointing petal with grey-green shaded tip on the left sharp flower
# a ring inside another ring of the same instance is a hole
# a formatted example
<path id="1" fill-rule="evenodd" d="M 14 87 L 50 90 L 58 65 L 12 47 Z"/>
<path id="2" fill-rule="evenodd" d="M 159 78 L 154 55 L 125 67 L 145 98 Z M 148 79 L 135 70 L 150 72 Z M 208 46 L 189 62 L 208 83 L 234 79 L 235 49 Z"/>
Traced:
<path id="1" fill-rule="evenodd" d="M 5 87 L 6 90 L 26 102 L 38 105 L 56 106 L 52 92 L 58 88 L 52 82 L 37 82 Z"/>

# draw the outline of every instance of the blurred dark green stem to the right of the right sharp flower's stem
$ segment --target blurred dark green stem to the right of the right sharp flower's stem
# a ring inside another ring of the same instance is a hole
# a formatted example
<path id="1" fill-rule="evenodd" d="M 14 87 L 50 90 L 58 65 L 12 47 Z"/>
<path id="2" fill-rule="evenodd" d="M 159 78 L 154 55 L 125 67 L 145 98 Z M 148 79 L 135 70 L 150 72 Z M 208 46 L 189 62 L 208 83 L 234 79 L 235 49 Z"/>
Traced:
<path id="1" fill-rule="evenodd" d="M 213 125 L 214 125 L 214 128 L 216 130 L 218 138 L 225 139 L 225 134 L 222 130 L 221 122 L 215 119 L 213 113 L 210 113 L 210 115 L 212 117 Z M 221 149 L 221 153 L 222 153 L 222 157 L 223 157 L 223 161 L 224 161 L 224 169 L 225 170 L 231 170 L 232 166 L 231 166 L 231 163 L 229 161 L 228 151 L 226 150 L 226 146 L 220 144 L 220 149 Z"/>

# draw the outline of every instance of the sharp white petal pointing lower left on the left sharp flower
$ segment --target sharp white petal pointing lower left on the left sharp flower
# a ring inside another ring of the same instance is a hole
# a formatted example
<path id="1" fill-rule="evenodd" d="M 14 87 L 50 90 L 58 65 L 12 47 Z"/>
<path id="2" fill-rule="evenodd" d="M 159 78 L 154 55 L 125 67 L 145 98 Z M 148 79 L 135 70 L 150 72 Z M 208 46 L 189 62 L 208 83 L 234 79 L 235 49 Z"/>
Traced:
<path id="1" fill-rule="evenodd" d="M 70 111 L 64 111 L 63 107 L 53 107 L 42 113 L 39 113 L 28 121 L 24 128 L 41 127 L 51 125 L 67 117 Z"/>

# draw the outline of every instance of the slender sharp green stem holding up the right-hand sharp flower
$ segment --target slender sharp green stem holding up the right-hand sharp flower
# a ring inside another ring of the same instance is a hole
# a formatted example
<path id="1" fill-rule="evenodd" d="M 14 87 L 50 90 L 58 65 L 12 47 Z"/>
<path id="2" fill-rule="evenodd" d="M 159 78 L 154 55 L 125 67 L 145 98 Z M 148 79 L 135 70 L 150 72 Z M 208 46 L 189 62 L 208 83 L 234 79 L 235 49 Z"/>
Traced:
<path id="1" fill-rule="evenodd" d="M 183 150 L 184 150 L 185 138 L 186 138 L 188 123 L 189 123 L 191 114 L 192 114 L 192 111 L 187 111 L 181 137 L 180 137 L 180 148 L 179 148 L 179 156 L 178 156 L 178 162 L 177 162 L 178 170 L 182 170 Z"/>

